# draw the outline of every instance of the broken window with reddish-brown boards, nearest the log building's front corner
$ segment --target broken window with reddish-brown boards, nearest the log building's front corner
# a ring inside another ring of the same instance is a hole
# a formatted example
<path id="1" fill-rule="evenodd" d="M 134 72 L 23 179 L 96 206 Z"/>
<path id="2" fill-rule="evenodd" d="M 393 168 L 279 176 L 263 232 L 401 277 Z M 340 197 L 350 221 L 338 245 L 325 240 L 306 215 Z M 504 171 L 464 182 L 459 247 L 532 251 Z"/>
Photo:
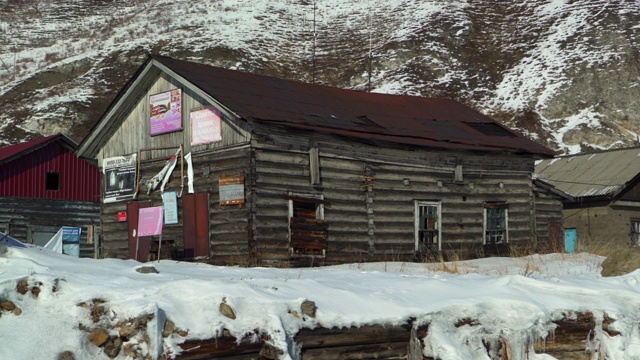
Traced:
<path id="1" fill-rule="evenodd" d="M 289 252 L 292 256 L 324 256 L 328 224 L 322 195 L 289 195 Z"/>

